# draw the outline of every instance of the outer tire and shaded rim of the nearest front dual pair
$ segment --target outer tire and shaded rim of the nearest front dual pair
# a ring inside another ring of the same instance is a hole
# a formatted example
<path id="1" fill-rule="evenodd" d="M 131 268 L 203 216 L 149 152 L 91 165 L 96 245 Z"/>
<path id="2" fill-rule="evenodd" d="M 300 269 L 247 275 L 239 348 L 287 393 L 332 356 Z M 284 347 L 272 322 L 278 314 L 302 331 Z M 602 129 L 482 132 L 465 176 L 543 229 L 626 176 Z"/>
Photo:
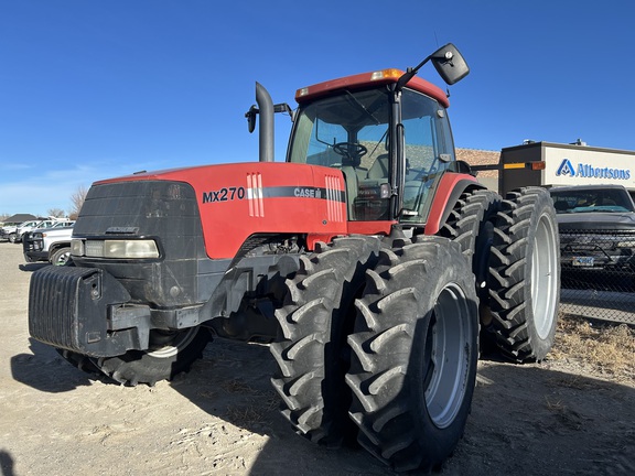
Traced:
<path id="1" fill-rule="evenodd" d="M 384 250 L 356 306 L 346 381 L 358 442 L 397 470 L 439 467 L 463 435 L 476 378 L 467 260 L 440 237 Z"/>

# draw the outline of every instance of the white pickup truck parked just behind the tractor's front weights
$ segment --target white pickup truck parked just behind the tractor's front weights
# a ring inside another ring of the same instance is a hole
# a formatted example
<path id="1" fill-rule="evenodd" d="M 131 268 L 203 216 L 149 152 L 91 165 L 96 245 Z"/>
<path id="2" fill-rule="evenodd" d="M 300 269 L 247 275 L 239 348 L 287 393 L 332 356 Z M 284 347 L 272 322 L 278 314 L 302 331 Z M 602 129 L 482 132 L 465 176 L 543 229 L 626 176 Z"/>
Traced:
<path id="1" fill-rule="evenodd" d="M 23 236 L 22 246 L 26 262 L 49 261 L 63 266 L 71 256 L 73 227 L 42 228 Z"/>

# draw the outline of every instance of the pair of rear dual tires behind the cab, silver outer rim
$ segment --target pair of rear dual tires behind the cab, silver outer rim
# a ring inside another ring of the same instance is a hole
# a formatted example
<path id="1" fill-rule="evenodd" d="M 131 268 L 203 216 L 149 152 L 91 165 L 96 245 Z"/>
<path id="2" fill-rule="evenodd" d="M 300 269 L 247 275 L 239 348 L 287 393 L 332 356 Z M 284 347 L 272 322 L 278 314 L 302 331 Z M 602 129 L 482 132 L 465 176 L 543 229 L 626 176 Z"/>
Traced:
<path id="1" fill-rule="evenodd" d="M 549 192 L 464 192 L 440 235 L 472 263 L 482 343 L 516 363 L 540 361 L 553 345 L 560 301 L 560 244 Z"/>

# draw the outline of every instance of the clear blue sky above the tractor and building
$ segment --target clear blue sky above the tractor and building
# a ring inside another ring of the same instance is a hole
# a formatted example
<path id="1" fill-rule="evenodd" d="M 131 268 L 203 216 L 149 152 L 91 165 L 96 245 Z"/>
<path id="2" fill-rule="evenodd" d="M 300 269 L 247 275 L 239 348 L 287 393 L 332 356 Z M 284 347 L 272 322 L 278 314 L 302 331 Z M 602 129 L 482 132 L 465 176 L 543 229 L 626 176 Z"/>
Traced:
<path id="1" fill-rule="evenodd" d="M 450 89 L 456 147 L 635 150 L 634 18 L 625 0 L 4 0 L 0 215 L 69 209 L 139 170 L 255 161 L 256 80 L 294 107 L 302 86 L 448 42 L 472 69 Z M 277 118 L 277 160 L 289 129 Z"/>

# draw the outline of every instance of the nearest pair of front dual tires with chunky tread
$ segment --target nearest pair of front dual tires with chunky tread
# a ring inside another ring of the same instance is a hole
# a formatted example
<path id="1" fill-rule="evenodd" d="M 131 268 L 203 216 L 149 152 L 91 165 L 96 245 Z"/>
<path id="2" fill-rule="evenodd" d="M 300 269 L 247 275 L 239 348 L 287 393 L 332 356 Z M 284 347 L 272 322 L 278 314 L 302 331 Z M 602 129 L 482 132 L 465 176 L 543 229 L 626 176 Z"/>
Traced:
<path id="1" fill-rule="evenodd" d="M 270 346 L 297 432 L 329 446 L 356 435 L 399 470 L 439 466 L 463 433 L 476 377 L 471 277 L 461 247 L 440 237 L 397 248 L 341 238 L 303 258 Z"/>

